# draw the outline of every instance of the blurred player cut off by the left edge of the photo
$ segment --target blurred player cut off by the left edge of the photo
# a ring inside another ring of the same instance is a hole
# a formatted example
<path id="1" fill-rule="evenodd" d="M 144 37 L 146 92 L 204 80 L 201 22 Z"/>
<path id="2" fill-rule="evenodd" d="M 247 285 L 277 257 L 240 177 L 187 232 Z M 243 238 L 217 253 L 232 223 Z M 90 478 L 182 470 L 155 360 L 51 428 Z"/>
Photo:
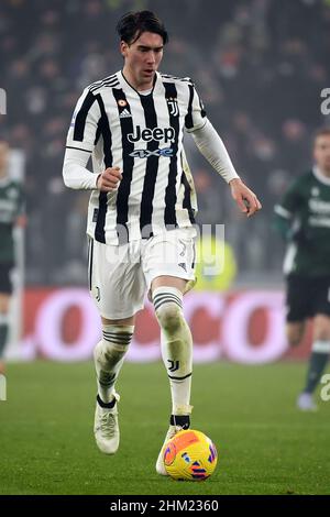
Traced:
<path id="1" fill-rule="evenodd" d="M 10 273 L 14 266 L 13 229 L 24 226 L 22 189 L 8 174 L 9 145 L 0 139 L 0 374 L 8 339 L 9 305 L 12 294 Z"/>

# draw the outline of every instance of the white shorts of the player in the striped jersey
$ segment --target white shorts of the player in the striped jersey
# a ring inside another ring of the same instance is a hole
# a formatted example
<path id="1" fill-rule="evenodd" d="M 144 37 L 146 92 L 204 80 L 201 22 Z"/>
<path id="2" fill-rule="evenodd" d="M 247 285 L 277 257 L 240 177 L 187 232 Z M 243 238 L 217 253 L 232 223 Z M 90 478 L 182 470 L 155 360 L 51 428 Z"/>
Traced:
<path id="1" fill-rule="evenodd" d="M 196 282 L 195 237 L 195 228 L 184 228 L 122 245 L 89 238 L 89 289 L 100 315 L 107 319 L 135 315 L 157 276 L 190 280 L 189 290 Z"/>

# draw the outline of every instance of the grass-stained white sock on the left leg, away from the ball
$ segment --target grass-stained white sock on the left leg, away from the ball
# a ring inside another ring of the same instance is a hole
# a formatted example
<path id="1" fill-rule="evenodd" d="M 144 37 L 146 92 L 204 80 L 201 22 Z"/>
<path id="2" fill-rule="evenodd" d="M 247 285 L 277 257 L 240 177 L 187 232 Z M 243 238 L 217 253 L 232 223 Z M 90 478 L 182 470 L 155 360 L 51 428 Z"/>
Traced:
<path id="1" fill-rule="evenodd" d="M 103 324 L 103 339 L 95 348 L 94 359 L 97 372 L 98 394 L 106 404 L 116 394 L 114 385 L 129 349 L 134 326 Z"/>

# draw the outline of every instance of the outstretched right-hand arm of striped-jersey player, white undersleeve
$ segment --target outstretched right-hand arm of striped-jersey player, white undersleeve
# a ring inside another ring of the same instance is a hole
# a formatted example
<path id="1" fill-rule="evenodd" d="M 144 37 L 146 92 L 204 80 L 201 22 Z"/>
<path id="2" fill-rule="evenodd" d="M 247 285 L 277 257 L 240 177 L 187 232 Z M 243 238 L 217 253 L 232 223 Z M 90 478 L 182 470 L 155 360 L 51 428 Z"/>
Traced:
<path id="1" fill-rule="evenodd" d="M 190 91 L 193 101 L 186 117 L 186 130 L 191 133 L 200 153 L 230 185 L 232 198 L 240 210 L 251 217 L 262 208 L 262 205 L 235 172 L 221 138 L 207 118 L 195 87 Z"/>

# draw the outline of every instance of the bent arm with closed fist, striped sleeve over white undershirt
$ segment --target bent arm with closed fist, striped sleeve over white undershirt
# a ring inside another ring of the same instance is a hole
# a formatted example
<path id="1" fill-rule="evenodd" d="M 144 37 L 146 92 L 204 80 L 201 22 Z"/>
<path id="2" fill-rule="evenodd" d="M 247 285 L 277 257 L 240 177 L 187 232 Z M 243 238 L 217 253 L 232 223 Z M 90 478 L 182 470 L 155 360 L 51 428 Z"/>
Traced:
<path id="1" fill-rule="evenodd" d="M 110 193 L 118 187 L 121 179 L 119 167 L 108 167 L 100 174 L 87 168 L 100 119 L 99 99 L 86 88 L 77 102 L 66 141 L 63 179 L 69 188 Z"/>

